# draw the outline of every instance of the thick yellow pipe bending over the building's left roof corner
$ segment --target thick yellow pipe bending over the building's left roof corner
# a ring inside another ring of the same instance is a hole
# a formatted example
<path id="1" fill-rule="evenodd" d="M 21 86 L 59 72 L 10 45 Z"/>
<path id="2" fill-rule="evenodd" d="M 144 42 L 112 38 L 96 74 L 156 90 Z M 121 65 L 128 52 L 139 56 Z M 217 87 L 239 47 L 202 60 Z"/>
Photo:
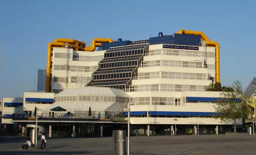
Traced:
<path id="1" fill-rule="evenodd" d="M 51 57 L 52 57 L 52 48 L 54 47 L 60 47 L 62 48 L 63 45 L 65 45 L 65 43 L 68 42 L 69 46 L 71 46 L 72 49 L 74 50 L 79 50 L 79 51 L 94 51 L 95 47 L 99 47 L 101 45 L 101 43 L 112 43 L 113 40 L 110 38 L 104 39 L 104 38 L 95 38 L 92 41 L 92 44 L 90 45 L 90 47 L 85 47 L 86 43 L 82 42 L 82 41 L 77 41 L 74 39 L 55 39 L 54 42 L 50 42 L 48 44 L 48 48 L 47 48 L 47 66 L 46 66 L 46 92 L 50 92 L 50 80 L 51 80 Z M 82 47 L 80 47 L 82 46 Z"/>

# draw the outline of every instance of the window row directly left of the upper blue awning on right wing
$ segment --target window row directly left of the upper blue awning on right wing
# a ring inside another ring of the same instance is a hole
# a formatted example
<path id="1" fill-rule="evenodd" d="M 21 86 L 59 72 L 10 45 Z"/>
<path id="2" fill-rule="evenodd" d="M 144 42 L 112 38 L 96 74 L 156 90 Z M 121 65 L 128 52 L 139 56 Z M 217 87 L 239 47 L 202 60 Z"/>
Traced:
<path id="1" fill-rule="evenodd" d="M 163 105 L 163 106 L 184 106 L 185 97 L 173 98 L 173 97 L 137 97 L 132 98 L 132 104 L 134 105 Z"/>

